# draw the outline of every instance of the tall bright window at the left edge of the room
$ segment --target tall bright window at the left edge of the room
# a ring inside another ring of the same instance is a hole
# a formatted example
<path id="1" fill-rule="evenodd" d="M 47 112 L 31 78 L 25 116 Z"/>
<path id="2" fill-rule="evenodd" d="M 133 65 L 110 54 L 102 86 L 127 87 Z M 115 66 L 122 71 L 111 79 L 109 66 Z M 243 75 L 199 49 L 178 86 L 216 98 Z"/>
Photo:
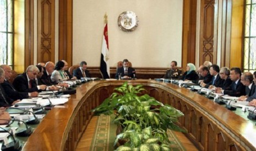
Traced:
<path id="1" fill-rule="evenodd" d="M 13 0 L 0 0 L 0 64 L 13 66 Z"/>

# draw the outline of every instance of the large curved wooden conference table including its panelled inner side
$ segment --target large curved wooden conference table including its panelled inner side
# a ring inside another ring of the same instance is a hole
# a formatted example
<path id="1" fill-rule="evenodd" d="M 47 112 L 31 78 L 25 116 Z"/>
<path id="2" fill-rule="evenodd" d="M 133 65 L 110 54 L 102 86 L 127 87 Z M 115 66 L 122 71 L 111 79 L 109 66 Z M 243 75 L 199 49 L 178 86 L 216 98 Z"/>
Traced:
<path id="1" fill-rule="evenodd" d="M 179 118 L 178 125 L 188 131 L 185 135 L 199 150 L 256 150 L 255 121 L 179 85 L 139 79 L 96 80 L 78 85 L 77 93 L 67 103 L 46 114 L 23 150 L 75 150 L 94 115 L 91 109 L 126 81 L 144 85 L 144 94 L 182 111 L 184 116 Z"/>

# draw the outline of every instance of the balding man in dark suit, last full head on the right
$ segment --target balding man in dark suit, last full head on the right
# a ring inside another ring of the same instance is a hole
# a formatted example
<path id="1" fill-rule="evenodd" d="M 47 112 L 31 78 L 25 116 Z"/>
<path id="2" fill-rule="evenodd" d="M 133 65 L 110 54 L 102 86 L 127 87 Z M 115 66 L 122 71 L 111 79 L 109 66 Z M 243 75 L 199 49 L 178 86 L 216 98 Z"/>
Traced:
<path id="1" fill-rule="evenodd" d="M 246 95 L 242 95 L 238 98 L 240 101 L 245 101 L 247 97 L 252 96 L 255 92 L 255 85 L 253 82 L 253 74 L 250 72 L 244 72 L 241 75 L 241 83 L 246 86 Z"/>

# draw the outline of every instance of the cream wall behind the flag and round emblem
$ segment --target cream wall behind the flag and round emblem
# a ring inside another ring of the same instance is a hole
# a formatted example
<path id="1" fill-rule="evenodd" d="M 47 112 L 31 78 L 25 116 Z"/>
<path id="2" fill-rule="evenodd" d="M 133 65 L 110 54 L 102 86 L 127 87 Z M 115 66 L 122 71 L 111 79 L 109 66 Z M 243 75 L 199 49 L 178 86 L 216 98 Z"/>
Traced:
<path id="1" fill-rule="evenodd" d="M 108 15 L 110 66 L 128 59 L 133 67 L 170 67 L 176 60 L 181 66 L 181 0 L 74 0 L 73 64 L 84 60 L 99 67 L 104 15 Z M 139 25 L 133 32 L 118 28 L 123 11 L 137 14 Z"/>

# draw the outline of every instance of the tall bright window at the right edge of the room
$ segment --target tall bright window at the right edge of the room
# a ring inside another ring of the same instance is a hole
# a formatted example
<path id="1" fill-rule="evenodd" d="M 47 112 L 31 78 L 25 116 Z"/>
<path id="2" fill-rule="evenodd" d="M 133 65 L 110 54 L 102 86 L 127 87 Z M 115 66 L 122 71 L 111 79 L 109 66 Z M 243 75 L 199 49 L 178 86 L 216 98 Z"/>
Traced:
<path id="1" fill-rule="evenodd" d="M 256 71 L 256 0 L 246 0 L 244 24 L 244 72 Z"/>

